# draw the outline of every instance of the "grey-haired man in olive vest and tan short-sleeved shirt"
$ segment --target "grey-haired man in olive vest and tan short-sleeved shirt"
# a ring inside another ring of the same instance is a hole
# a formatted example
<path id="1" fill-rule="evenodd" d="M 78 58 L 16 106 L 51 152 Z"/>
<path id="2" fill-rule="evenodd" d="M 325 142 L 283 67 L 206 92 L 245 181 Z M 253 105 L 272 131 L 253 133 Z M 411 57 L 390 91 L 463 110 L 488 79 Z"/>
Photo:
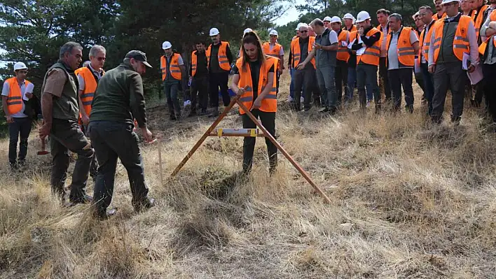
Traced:
<path id="1" fill-rule="evenodd" d="M 60 59 L 48 69 L 41 86 L 43 124 L 39 129 L 42 141 L 50 135 L 53 156 L 50 185 L 52 192 L 64 203 L 64 184 L 69 168 L 69 150 L 78 155 L 72 174 L 69 205 L 92 200 L 85 194 L 93 150 L 78 125 L 78 79 L 74 71 L 82 61 L 83 48 L 78 43 L 65 43 L 60 48 Z"/>

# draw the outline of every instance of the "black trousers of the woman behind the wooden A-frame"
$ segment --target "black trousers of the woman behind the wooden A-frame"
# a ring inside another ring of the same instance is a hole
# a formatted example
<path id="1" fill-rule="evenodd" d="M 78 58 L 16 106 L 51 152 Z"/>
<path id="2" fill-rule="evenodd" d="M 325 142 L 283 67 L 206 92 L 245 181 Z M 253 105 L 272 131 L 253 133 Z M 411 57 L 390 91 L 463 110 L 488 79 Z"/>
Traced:
<path id="1" fill-rule="evenodd" d="M 253 115 L 262 122 L 263 127 L 275 138 L 275 113 L 266 113 L 261 110 L 252 110 Z M 243 129 L 254 129 L 256 124 L 245 113 L 242 115 Z M 248 173 L 252 170 L 253 152 L 255 150 L 256 137 L 244 137 L 243 141 L 243 171 Z M 266 138 L 267 152 L 269 157 L 270 171 L 275 171 L 277 166 L 277 148 Z"/>

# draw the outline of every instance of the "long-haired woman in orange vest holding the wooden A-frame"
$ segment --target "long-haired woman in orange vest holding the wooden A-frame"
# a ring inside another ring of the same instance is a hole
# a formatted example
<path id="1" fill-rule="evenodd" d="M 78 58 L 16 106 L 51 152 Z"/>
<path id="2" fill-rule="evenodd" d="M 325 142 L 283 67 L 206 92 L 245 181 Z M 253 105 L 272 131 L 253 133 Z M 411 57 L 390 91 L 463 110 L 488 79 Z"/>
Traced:
<path id="1" fill-rule="evenodd" d="M 275 112 L 277 111 L 277 92 L 275 88 L 275 69 L 277 59 L 263 54 L 259 36 L 251 31 L 242 41 L 242 58 L 233 66 L 231 89 L 241 96 L 240 101 L 250 112 L 260 118 L 263 127 L 275 136 Z M 255 129 L 256 124 L 240 109 L 244 129 Z M 245 137 L 243 142 L 243 172 L 252 170 L 253 152 L 256 137 Z M 277 148 L 266 138 L 269 171 L 273 173 L 277 165 Z"/>

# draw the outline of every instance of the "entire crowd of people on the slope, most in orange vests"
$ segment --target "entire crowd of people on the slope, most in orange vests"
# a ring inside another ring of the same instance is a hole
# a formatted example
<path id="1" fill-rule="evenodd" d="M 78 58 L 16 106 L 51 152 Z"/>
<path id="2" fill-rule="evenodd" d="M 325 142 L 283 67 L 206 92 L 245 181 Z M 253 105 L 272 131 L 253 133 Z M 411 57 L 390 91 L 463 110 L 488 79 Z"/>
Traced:
<path id="1" fill-rule="evenodd" d="M 406 111 L 413 113 L 415 77 L 432 122 L 441 122 L 448 90 L 453 104 L 451 122 L 460 123 L 467 92 L 474 106 L 480 106 L 485 99 L 488 119 L 495 122 L 496 81 L 490 76 L 496 72 L 496 0 L 490 0 L 490 5 L 484 1 L 436 0 L 435 13 L 430 6 L 422 6 L 413 15 L 413 28 L 404 26 L 402 15 L 385 9 L 376 12 L 380 23 L 377 27 L 371 24 L 371 15 L 366 11 L 358 13 L 356 19 L 347 13 L 342 19 L 333 16 L 317 18 L 310 24 L 299 23 L 287 64 L 291 108 L 301 110 L 303 102 L 303 110 L 317 106 L 322 107 L 320 112 L 333 115 L 350 104 L 356 86 L 361 111 L 366 111 L 372 102 L 376 113 L 384 109 L 383 103 L 390 103 L 392 110 L 398 111 L 404 96 Z M 224 106 L 231 101 L 228 80 L 232 74 L 230 90 L 275 136 L 279 79 L 286 69 L 277 31 L 271 30 L 269 41 L 263 43 L 255 31 L 245 29 L 236 60 L 230 44 L 221 41 L 219 29 L 210 29 L 209 36 L 212 43 L 207 47 L 202 41 L 195 44 L 188 66 L 181 55 L 174 53 L 169 41 L 162 44 L 160 71 L 170 120 L 181 117 L 179 91 L 185 91 L 187 86 L 191 90 L 189 116 L 206 115 L 208 99 L 210 116 L 218 116 L 219 91 Z M 105 72 L 106 50 L 94 45 L 89 62 L 80 68 L 81 50 L 78 43 L 64 44 L 59 61 L 47 71 L 41 87 L 43 124 L 39 136 L 42 141 L 50 138 L 52 191 L 66 202 L 64 184 L 70 150 L 77 154 L 77 160 L 68 205 L 93 203 L 96 217 L 113 215 L 115 210 L 109 210 L 109 206 L 120 159 L 128 171 L 132 206 L 137 211 L 150 208 L 155 200 L 149 197 L 146 187 L 135 129 L 142 131 L 147 142 L 153 141 L 146 125 L 141 77 L 151 65 L 144 52 L 132 50 L 122 64 Z M 37 114 L 32 104 L 33 85 L 26 80 L 27 70 L 22 62 L 16 63 L 15 76 L 5 81 L 2 90 L 12 169 L 25 164 L 27 138 Z M 475 92 L 474 96 L 471 92 Z M 243 128 L 255 128 L 247 113 L 240 109 Z M 252 169 L 255 138 L 244 137 L 245 174 Z M 266 144 L 269 171 L 273 173 L 277 148 L 268 138 Z M 85 192 L 89 176 L 95 182 L 93 196 Z"/>

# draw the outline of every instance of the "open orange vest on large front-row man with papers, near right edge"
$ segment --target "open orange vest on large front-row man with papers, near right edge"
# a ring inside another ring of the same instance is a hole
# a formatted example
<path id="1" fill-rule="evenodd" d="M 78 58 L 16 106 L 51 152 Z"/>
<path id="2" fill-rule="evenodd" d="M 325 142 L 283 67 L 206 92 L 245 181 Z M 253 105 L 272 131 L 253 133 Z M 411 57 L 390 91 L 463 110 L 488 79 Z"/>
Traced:
<path id="1" fill-rule="evenodd" d="M 458 22 L 458 27 L 455 32 L 455 39 L 453 40 L 453 53 L 455 56 L 463 60 L 464 53 L 470 53 L 469 38 L 467 37 L 469 23 L 471 18 L 468 15 L 462 15 L 460 17 L 460 22 Z M 434 29 L 434 62 L 437 61 L 439 57 L 439 51 L 441 50 L 441 43 L 443 41 L 443 27 L 444 20 L 439 20 L 432 26 Z"/>

